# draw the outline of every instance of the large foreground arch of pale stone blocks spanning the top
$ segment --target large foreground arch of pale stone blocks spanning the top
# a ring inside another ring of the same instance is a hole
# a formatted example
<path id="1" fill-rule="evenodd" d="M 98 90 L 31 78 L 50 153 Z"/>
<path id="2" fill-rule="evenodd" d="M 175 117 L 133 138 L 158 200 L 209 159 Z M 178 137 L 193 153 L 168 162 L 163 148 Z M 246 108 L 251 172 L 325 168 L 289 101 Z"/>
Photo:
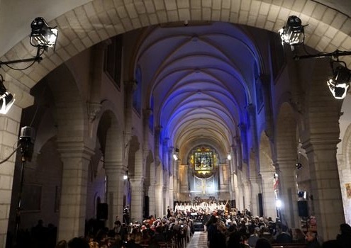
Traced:
<path id="1" fill-rule="evenodd" d="M 172 4 L 159 3 L 156 9 L 155 5 L 150 2 L 149 4 L 140 1 L 129 4 L 120 2 L 115 4 L 115 2 L 111 1 L 101 2 L 95 0 L 80 6 L 72 5 L 72 9 L 67 9 L 67 12 L 63 13 L 62 16 L 57 16 L 58 12 L 53 13 L 59 7 L 59 4 L 52 4 L 50 6 L 51 11 L 47 11 L 46 14 L 52 16 L 52 20 L 49 22 L 50 26 L 59 26 L 60 29 L 56 52 L 46 53 L 44 55 L 45 62 L 36 65 L 36 71 L 40 73 L 13 72 L 13 70 L 4 68 L 11 76 L 21 79 L 22 84 L 29 87 L 40 81 L 48 72 L 58 67 L 62 62 L 69 60 L 70 57 L 77 55 L 88 47 L 120 33 L 126 33 L 129 30 L 157 23 L 182 23 L 184 20 L 189 21 L 189 23 L 191 21 L 227 21 L 277 32 L 279 28 L 284 26 L 287 16 L 290 13 L 294 13 L 297 16 L 301 16 L 301 18 L 308 19 L 310 23 L 320 23 L 320 25 L 306 27 L 306 45 L 316 50 L 330 51 L 335 49 L 335 47 L 340 50 L 350 50 L 348 43 L 342 43 L 342 40 L 347 39 L 348 34 L 340 28 L 341 25 L 339 24 L 342 21 L 347 23 L 350 18 L 335 9 L 329 9 L 317 3 L 309 3 L 296 9 L 291 5 L 279 6 L 275 3 L 264 1 L 256 1 L 255 5 L 252 6 L 228 2 L 228 4 L 223 4 L 218 9 L 218 3 L 215 0 L 208 1 L 206 5 L 192 4 L 191 6 L 184 4 L 181 0 L 177 0 L 172 2 Z M 269 11 L 268 15 L 267 10 L 269 9 L 280 9 L 280 11 Z M 329 21 L 328 18 L 323 18 L 323 15 L 309 17 L 311 9 L 328 11 L 328 16 L 332 16 L 338 21 Z M 262 13 L 260 13 L 261 11 Z M 286 15 L 280 15 L 282 11 Z M 107 12 L 110 14 L 106 15 Z M 248 13 L 251 15 L 248 15 Z M 23 17 L 29 16 L 29 13 L 23 14 Z M 250 16 L 256 16 L 257 19 L 250 18 Z M 22 18 L 18 22 L 23 22 L 24 20 L 28 20 L 28 18 Z M 303 23 L 305 22 L 303 20 Z M 262 26 L 262 23 L 266 24 Z M 25 25 L 18 26 L 24 27 Z M 1 52 L 1 55 L 5 54 L 1 56 L 1 59 L 4 57 L 13 60 L 18 57 L 27 57 L 28 54 L 35 54 L 33 47 L 28 47 L 28 45 L 23 47 L 23 44 L 28 42 L 27 37 L 23 38 L 27 33 L 27 30 L 21 30 L 21 34 L 18 34 L 16 37 L 17 45 L 12 48 L 6 45 L 8 50 L 7 52 Z M 341 41 L 332 39 L 335 33 L 342 39 Z M 320 42 L 318 43 L 316 40 L 320 40 Z M 326 44 L 330 45 L 327 46 Z M 347 58 L 346 60 L 349 64 L 350 59 Z"/>

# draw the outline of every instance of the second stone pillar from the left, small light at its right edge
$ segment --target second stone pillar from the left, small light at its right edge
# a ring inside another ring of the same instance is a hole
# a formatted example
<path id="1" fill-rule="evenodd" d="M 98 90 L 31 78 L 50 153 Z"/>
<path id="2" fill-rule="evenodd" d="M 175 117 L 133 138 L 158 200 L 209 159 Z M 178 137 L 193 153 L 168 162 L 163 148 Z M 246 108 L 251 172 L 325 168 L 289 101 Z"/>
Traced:
<path id="1" fill-rule="evenodd" d="M 126 168 L 122 164 L 105 161 L 105 171 L 107 175 L 107 201 L 108 221 L 106 225 L 111 229 L 118 216 L 118 220 L 123 220 L 123 195 Z"/>

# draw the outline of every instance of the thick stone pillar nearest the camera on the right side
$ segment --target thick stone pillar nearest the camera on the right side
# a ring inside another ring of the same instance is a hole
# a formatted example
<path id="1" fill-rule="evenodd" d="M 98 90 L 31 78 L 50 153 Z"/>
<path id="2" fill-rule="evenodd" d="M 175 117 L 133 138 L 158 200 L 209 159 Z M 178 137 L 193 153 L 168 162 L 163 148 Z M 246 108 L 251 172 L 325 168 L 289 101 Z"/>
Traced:
<path id="1" fill-rule="evenodd" d="M 345 222 L 345 216 L 336 161 L 336 144 L 339 140 L 328 140 L 328 137 L 323 136 L 306 140 L 303 148 L 310 165 L 317 231 L 324 240 L 329 240 L 335 239 L 339 225 Z"/>

